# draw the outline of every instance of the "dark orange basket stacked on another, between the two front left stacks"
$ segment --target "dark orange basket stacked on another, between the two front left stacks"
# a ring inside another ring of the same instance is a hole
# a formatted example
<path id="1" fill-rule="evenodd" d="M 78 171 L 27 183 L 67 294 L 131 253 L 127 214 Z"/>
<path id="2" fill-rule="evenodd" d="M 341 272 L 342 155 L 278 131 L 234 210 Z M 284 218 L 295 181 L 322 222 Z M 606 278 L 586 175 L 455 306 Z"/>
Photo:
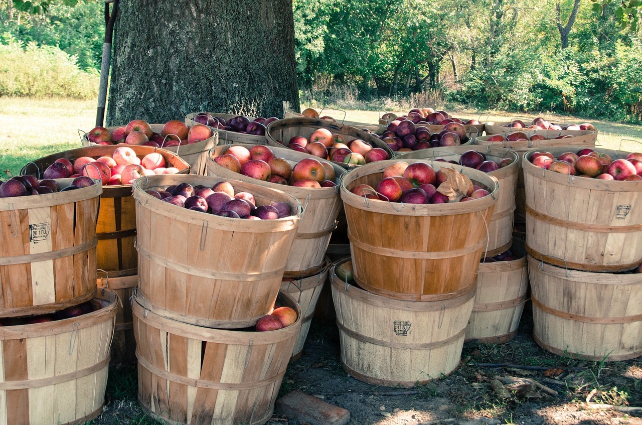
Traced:
<path id="1" fill-rule="evenodd" d="M 119 149 L 120 148 L 120 149 Z M 123 150 L 126 148 L 127 150 Z M 46 168 L 56 160 L 69 160 L 75 163 L 96 160 L 101 157 L 111 157 L 114 154 L 123 159 L 142 160 L 146 155 L 159 153 L 168 167 L 175 168 L 178 173 L 189 173 L 187 162 L 168 150 L 152 146 L 137 146 L 130 144 L 92 145 L 84 148 L 58 152 L 34 160 L 24 166 L 22 174 L 42 175 Z M 121 162 L 119 160 L 119 162 Z M 89 165 L 91 168 L 91 165 Z M 136 344 L 132 324 L 132 308 L 128 300 L 138 284 L 138 256 L 135 248 L 136 213 L 135 201 L 132 197 L 132 184 L 117 184 L 103 186 L 100 194 L 100 208 L 94 231 L 98 239 L 96 246 L 97 272 L 93 272 L 94 282 L 102 291 L 108 288 L 121 299 L 116 308 L 116 328 L 111 347 L 111 363 L 133 364 L 136 361 Z"/>

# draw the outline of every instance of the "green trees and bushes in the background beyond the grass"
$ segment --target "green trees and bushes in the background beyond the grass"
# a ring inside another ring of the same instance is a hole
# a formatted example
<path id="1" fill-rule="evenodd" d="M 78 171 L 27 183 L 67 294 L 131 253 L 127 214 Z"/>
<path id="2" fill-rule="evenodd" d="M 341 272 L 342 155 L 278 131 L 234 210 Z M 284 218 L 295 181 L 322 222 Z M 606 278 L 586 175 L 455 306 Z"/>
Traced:
<path id="1" fill-rule="evenodd" d="M 0 49 L 0 96 L 43 95 L 7 83 L 21 77 L 8 75 L 15 69 L 33 72 L 6 65 L 17 58 L 15 46 L 27 62 L 55 58 L 58 68 L 38 76 L 53 79 L 50 95 L 83 96 L 88 83 L 80 76 L 97 80 L 104 3 L 72 3 L 0 0 L 0 43 L 13 46 Z M 299 88 L 304 101 L 320 104 L 438 98 L 641 123 L 642 40 L 631 31 L 638 3 L 581 1 L 562 48 L 558 28 L 574 0 L 293 0 Z M 54 74 L 63 64 L 78 70 L 71 74 L 82 89 L 61 89 L 67 86 Z"/>

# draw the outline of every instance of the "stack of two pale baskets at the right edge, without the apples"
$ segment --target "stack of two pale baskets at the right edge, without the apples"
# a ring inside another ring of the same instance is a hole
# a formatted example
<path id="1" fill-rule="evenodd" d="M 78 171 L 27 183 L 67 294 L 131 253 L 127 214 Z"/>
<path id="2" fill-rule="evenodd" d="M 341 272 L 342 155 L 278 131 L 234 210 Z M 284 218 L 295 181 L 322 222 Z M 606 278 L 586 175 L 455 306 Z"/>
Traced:
<path id="1" fill-rule="evenodd" d="M 642 280 L 633 270 L 642 262 L 642 181 L 557 173 L 530 162 L 534 153 L 523 169 L 535 341 L 588 360 L 640 356 Z"/>

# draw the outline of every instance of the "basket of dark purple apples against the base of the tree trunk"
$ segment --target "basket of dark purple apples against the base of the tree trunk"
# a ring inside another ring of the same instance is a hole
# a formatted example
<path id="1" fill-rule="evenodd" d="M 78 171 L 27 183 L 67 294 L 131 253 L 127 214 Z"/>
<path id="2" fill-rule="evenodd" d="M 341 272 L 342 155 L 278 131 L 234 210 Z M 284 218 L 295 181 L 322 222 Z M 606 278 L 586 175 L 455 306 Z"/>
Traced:
<path id="1" fill-rule="evenodd" d="M 185 123 L 187 125 L 199 123 L 218 130 L 219 141 L 223 144 L 266 144 L 265 129 L 277 119 L 277 117 L 248 117 L 216 112 L 195 112 L 185 116 Z"/>

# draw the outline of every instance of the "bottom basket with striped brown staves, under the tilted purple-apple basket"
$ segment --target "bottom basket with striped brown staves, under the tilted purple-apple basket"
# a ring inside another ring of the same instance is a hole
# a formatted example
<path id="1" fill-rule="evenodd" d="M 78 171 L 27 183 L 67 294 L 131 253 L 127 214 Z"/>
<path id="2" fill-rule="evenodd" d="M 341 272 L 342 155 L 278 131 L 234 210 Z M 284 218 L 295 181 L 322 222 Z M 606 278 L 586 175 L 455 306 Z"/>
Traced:
<path id="1" fill-rule="evenodd" d="M 229 331 L 171 320 L 134 300 L 138 399 L 171 424 L 265 424 L 302 322 L 276 331 Z M 142 301 L 141 301 L 142 303 Z"/>

